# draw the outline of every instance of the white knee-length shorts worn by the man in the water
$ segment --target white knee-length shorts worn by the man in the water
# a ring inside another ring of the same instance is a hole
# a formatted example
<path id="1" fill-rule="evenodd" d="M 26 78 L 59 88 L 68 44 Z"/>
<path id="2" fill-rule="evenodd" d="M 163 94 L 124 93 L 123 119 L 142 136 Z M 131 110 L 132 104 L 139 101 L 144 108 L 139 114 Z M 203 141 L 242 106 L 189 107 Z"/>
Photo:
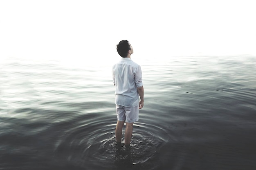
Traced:
<path id="1" fill-rule="evenodd" d="M 116 105 L 117 120 L 133 123 L 139 120 L 139 105 L 135 107 L 124 107 Z"/>

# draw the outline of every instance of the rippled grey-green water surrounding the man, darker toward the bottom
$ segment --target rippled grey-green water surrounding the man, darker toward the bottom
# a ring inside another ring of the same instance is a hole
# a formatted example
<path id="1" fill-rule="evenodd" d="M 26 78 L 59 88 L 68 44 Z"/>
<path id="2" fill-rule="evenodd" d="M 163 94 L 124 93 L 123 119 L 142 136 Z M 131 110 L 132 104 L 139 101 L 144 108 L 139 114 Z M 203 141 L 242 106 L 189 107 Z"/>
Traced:
<path id="1" fill-rule="evenodd" d="M 139 64 L 145 105 L 117 150 L 112 63 L 0 63 L 0 170 L 256 169 L 256 57 Z"/>

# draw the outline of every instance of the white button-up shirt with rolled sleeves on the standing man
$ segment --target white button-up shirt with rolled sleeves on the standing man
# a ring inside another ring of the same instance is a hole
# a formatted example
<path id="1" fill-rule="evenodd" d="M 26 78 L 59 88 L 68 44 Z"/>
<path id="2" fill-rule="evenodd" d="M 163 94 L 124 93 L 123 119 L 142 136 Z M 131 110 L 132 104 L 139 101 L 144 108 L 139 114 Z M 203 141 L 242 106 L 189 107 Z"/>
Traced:
<path id="1" fill-rule="evenodd" d="M 141 67 L 130 58 L 121 58 L 112 69 L 115 85 L 115 104 L 125 107 L 139 105 L 137 87 L 142 87 Z"/>

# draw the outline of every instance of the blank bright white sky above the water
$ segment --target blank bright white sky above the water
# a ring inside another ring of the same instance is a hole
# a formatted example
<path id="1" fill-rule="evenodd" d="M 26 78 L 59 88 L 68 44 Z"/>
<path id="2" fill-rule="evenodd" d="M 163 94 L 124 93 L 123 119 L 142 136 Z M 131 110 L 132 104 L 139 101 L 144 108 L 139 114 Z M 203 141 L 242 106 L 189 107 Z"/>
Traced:
<path id="1" fill-rule="evenodd" d="M 0 58 L 84 63 L 256 55 L 254 0 L 0 0 Z"/>

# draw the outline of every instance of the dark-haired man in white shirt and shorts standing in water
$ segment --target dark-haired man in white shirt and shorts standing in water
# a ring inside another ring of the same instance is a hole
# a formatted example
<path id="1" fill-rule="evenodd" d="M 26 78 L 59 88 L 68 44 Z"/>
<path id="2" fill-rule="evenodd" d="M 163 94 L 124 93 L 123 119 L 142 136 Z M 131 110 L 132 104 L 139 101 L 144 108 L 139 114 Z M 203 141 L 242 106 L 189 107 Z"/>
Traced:
<path id="1" fill-rule="evenodd" d="M 112 69 L 117 112 L 115 134 L 117 145 L 121 146 L 122 130 L 126 122 L 124 144 L 129 146 L 133 123 L 139 120 L 139 109 L 144 106 L 142 72 L 141 67 L 131 60 L 133 49 L 128 40 L 119 42 L 117 52 L 122 58 Z"/>

